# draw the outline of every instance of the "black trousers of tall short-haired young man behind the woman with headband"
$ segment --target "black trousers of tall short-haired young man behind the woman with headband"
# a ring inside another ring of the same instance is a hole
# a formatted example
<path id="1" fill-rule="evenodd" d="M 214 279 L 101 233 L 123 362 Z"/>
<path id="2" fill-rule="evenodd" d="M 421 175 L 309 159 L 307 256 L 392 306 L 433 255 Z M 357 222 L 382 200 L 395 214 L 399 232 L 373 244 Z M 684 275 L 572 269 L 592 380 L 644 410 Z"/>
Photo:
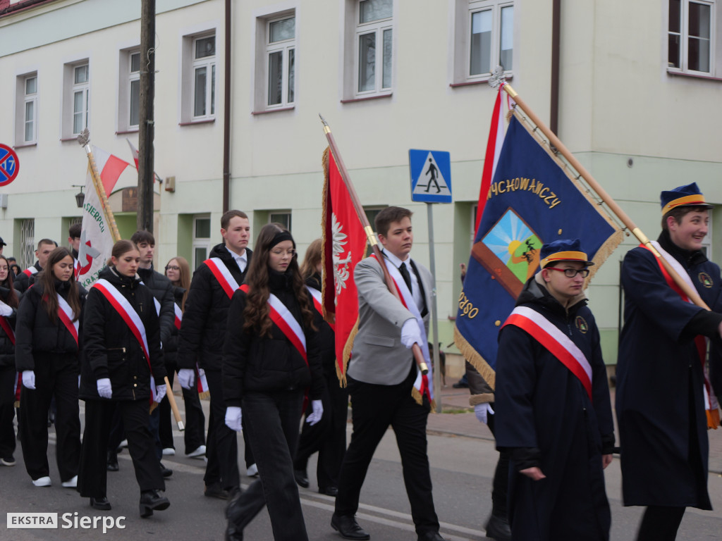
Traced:
<path id="1" fill-rule="evenodd" d="M 221 371 L 206 370 L 206 380 L 211 392 L 211 412 L 208 418 L 206 443 L 207 485 L 221 483 L 222 488 L 233 491 L 240 486 L 238 472 L 238 440 L 235 431 L 225 424 L 226 405 L 223 400 L 223 379 Z"/>

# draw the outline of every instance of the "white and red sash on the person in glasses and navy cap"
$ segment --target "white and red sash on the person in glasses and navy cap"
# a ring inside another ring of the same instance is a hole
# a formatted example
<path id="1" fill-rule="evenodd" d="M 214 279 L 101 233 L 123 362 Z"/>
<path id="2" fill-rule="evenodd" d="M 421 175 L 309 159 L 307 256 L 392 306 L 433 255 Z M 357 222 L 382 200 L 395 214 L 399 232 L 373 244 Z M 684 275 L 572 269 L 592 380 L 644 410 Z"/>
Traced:
<path id="1" fill-rule="evenodd" d="M 502 327 L 506 325 L 515 325 L 525 330 L 534 340 L 547 348 L 549 353 L 559 359 L 579 379 L 591 402 L 591 365 L 584 353 L 565 333 L 529 307 L 513 309 Z"/>

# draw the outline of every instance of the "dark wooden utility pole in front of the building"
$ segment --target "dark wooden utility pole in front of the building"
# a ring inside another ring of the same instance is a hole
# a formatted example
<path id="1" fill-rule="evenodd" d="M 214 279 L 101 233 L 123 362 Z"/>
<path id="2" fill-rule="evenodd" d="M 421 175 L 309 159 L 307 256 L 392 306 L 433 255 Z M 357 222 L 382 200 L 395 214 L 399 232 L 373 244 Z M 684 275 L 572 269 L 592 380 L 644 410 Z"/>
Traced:
<path id="1" fill-rule="evenodd" d="M 140 15 L 140 126 L 138 129 L 138 229 L 153 232 L 153 97 L 155 96 L 155 0 L 142 0 Z"/>

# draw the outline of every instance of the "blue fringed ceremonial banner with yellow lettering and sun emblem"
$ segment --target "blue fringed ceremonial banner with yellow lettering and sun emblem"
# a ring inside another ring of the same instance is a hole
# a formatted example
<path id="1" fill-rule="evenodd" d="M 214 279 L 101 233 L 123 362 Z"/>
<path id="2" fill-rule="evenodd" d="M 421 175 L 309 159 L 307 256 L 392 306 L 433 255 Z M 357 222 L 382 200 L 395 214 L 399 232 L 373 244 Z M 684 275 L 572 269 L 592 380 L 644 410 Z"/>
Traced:
<path id="1" fill-rule="evenodd" d="M 454 340 L 495 387 L 497 335 L 524 283 L 539 270 L 541 245 L 578 238 L 596 263 L 622 241 L 617 224 L 588 198 L 539 139 L 511 118 L 479 222 L 456 315 Z"/>

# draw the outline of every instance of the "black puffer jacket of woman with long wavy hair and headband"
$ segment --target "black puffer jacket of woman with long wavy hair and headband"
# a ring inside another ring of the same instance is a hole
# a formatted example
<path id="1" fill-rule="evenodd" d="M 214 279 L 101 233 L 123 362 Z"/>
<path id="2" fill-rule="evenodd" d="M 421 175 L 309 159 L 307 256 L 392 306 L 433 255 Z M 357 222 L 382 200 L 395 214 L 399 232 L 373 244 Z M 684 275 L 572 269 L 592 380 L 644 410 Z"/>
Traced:
<path id="1" fill-rule="evenodd" d="M 290 276 L 269 271 L 269 289 L 303 325 L 301 308 L 293 292 Z M 306 357 L 276 325 L 271 336 L 243 331 L 246 295 L 236 291 L 228 309 L 228 325 L 223 347 L 223 399 L 227 406 L 240 406 L 244 392 L 274 392 L 306 389 L 311 400 L 321 398 L 323 370 L 318 353 L 318 332 L 304 327 Z M 313 310 L 313 307 L 309 307 Z"/>

